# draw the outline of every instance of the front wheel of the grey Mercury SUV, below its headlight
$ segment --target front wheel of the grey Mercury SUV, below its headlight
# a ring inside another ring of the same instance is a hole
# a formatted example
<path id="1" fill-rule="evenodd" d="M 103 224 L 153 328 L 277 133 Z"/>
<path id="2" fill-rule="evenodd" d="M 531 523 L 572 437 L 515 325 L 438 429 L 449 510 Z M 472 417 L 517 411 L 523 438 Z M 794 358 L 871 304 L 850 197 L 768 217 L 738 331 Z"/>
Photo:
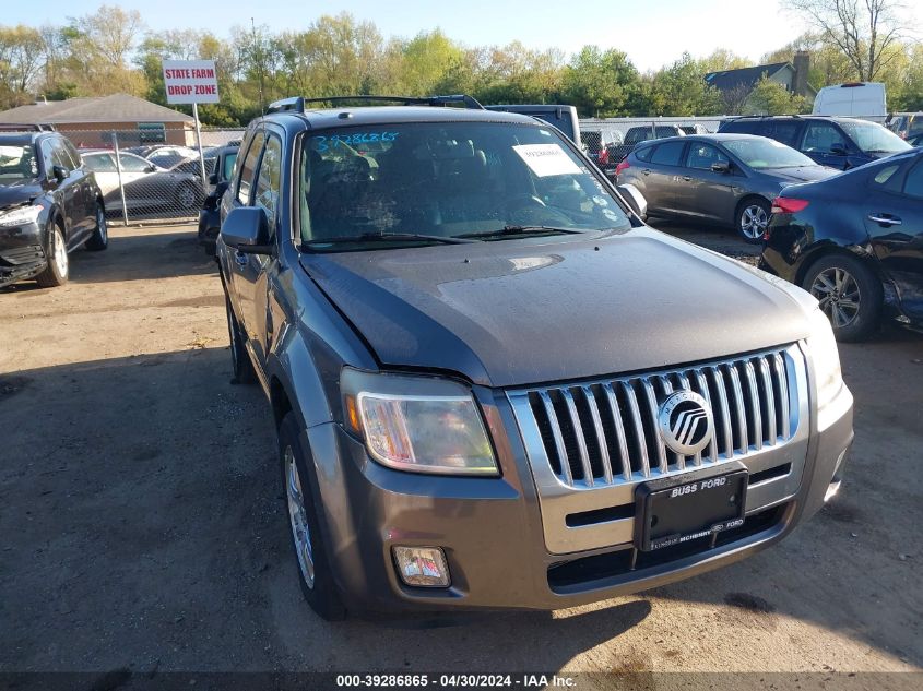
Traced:
<path id="1" fill-rule="evenodd" d="M 301 448 L 300 432 L 298 417 L 289 412 L 279 426 L 279 452 L 292 545 L 298 560 L 298 581 L 311 609 L 327 621 L 338 621 L 345 618 L 346 608 L 328 563 L 315 501 L 318 493 L 308 467 L 308 455 Z"/>

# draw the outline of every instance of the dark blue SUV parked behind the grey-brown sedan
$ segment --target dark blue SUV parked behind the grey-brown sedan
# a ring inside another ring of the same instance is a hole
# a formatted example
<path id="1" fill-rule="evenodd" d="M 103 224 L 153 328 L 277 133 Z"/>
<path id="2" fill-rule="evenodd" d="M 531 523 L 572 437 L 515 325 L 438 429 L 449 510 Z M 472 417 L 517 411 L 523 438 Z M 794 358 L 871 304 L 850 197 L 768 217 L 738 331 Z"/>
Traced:
<path id="1" fill-rule="evenodd" d="M 910 148 L 876 122 L 855 118 L 766 116 L 725 120 L 719 132 L 758 134 L 809 156 L 821 166 L 848 170 Z"/>

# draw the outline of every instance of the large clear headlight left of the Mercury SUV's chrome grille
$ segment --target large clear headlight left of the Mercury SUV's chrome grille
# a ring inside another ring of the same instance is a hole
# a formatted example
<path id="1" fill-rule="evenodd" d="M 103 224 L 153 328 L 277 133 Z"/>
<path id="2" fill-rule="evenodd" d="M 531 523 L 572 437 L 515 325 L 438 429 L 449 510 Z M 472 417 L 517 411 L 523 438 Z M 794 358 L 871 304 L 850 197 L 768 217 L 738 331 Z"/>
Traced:
<path id="1" fill-rule="evenodd" d="M 477 404 L 461 384 L 352 372 L 344 373 L 343 390 L 347 425 L 362 432 L 369 455 L 382 465 L 411 473 L 497 475 Z"/>

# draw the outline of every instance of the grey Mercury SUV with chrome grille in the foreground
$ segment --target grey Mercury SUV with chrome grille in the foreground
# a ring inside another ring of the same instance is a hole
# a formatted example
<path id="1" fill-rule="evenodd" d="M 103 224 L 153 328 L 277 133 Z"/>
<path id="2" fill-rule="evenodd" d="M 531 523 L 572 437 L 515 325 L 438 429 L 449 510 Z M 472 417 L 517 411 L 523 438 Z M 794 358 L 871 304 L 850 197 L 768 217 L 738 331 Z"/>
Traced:
<path id="1" fill-rule="evenodd" d="M 546 122 L 383 98 L 274 104 L 221 206 L 320 616 L 600 600 L 837 492 L 853 402 L 813 297 L 647 227 Z"/>

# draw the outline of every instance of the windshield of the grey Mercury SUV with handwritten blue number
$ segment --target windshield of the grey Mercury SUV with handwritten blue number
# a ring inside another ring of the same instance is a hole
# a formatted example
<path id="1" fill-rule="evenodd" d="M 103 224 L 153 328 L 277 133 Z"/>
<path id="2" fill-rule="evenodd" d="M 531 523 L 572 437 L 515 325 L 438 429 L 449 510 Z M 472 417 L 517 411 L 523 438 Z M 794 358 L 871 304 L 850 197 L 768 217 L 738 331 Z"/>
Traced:
<path id="1" fill-rule="evenodd" d="M 631 225 L 583 159 L 541 126 L 350 128 L 307 135 L 305 147 L 301 239 L 315 250 L 380 249 L 381 234 L 426 243 L 422 236 L 496 240 L 516 237 L 513 227 L 554 234 Z"/>

